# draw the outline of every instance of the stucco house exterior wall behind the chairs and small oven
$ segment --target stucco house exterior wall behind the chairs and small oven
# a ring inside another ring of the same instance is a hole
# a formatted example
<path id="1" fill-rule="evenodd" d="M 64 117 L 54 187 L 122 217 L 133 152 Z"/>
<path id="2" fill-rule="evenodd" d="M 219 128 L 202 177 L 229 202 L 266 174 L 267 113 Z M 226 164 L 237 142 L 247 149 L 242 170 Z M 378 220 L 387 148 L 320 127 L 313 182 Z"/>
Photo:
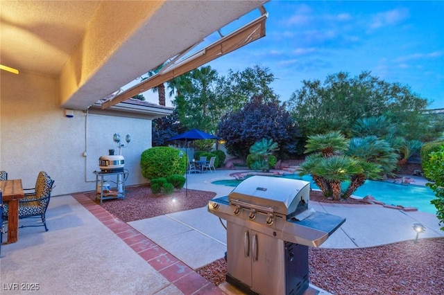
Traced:
<path id="1" fill-rule="evenodd" d="M 67 118 L 56 78 L 25 71 L 0 75 L 0 170 L 8 179 L 22 179 L 24 188 L 33 188 L 38 172 L 45 170 L 55 180 L 54 196 L 94 190 L 92 172 L 99 170 L 99 157 L 110 149 L 119 153 L 112 141 L 117 132 L 123 142 L 126 134 L 132 138 L 122 149 L 126 185 L 146 183 L 139 161 L 151 147 L 151 120 L 83 111 Z"/>

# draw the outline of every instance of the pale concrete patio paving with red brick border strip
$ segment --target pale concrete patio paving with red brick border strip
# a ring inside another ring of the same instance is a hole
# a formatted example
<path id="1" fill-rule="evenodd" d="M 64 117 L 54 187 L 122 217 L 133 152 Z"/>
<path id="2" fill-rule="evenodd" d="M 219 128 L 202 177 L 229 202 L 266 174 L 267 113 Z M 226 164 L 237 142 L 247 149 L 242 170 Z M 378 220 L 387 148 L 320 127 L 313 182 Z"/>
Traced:
<path id="1" fill-rule="evenodd" d="M 228 195 L 232 188 L 211 182 L 227 179 L 231 172 L 188 175 L 187 187 Z M 444 237 L 438 219 L 429 213 L 310 204 L 316 211 L 347 219 L 321 247 L 413 240 L 415 222 L 427 228 L 420 238 Z M 205 207 L 126 224 L 79 193 L 53 197 L 46 216 L 49 231 L 19 229 L 17 243 L 2 245 L 1 294 L 28 292 L 21 288 L 32 284 L 38 284 L 40 294 L 240 294 L 226 283 L 215 287 L 194 271 L 226 251 L 225 229 Z"/>

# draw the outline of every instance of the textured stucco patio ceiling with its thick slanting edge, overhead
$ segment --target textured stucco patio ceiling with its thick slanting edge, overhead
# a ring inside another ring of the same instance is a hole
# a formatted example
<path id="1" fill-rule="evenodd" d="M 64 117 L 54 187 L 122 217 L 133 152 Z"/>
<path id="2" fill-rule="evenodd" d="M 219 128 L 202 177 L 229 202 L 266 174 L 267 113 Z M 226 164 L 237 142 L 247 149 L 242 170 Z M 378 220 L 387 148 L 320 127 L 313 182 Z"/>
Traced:
<path id="1" fill-rule="evenodd" d="M 2 0 L 0 62 L 56 76 L 60 105 L 86 109 L 264 2 Z"/>

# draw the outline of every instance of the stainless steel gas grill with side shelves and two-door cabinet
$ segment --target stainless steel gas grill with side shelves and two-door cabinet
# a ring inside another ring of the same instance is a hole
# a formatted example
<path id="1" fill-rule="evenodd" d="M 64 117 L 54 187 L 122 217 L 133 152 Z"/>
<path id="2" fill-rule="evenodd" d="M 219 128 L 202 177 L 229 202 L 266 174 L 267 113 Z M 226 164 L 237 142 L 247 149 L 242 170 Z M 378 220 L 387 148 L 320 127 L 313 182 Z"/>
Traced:
<path id="1" fill-rule="evenodd" d="M 253 176 L 208 211 L 227 221 L 227 281 L 253 294 L 303 294 L 308 247 L 318 247 L 345 218 L 309 208 L 310 183 Z"/>

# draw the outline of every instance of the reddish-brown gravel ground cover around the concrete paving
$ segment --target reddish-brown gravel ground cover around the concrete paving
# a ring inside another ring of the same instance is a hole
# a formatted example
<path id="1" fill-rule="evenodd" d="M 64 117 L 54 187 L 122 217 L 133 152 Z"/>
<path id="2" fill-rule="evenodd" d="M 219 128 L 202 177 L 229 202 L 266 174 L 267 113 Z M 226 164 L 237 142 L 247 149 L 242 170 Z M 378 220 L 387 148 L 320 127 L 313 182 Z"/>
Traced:
<path id="1" fill-rule="evenodd" d="M 94 192 L 85 195 L 95 199 Z M 148 186 L 137 186 L 127 188 L 126 199 L 107 200 L 102 206 L 123 222 L 130 222 L 207 206 L 214 196 L 200 190 L 186 194 L 185 189 L 172 195 L 153 195 Z M 334 202 L 318 191 L 311 191 L 310 199 Z M 342 203 L 362 204 L 355 199 Z M 444 294 L 443 254 L 444 238 L 362 249 L 309 248 L 309 280 L 332 294 Z M 220 259 L 197 272 L 219 285 L 225 281 L 226 268 L 225 260 Z"/>

